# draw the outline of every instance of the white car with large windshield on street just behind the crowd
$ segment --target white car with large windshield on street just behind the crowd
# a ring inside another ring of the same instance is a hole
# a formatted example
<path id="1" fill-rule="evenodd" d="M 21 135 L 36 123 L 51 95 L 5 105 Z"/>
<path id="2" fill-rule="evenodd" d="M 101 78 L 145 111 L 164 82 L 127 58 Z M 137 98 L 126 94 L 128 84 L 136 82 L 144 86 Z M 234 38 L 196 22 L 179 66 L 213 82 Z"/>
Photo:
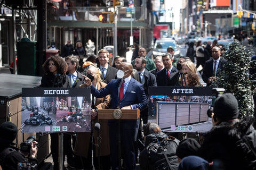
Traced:
<path id="1" fill-rule="evenodd" d="M 166 53 L 167 48 L 170 46 L 172 46 L 172 48 L 175 51 L 174 57 L 179 58 L 180 57 L 180 49 L 179 49 L 177 43 L 175 42 L 175 40 L 173 40 L 172 38 L 162 38 L 162 39 L 156 40 L 156 43 L 155 43 L 154 49 L 153 49 L 154 58 L 158 55 L 163 55 L 164 53 Z"/>

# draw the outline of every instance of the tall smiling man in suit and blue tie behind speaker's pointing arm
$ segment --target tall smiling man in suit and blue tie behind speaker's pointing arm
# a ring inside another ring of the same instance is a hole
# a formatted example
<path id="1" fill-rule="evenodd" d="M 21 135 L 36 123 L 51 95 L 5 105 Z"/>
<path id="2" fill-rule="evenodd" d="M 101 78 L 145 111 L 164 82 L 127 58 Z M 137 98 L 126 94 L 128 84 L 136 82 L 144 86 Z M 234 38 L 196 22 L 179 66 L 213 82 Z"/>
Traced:
<path id="1" fill-rule="evenodd" d="M 108 84 L 112 79 L 116 79 L 117 69 L 108 64 L 109 52 L 107 50 L 99 50 L 98 57 L 100 62 L 99 68 L 102 73 L 102 80 Z"/>

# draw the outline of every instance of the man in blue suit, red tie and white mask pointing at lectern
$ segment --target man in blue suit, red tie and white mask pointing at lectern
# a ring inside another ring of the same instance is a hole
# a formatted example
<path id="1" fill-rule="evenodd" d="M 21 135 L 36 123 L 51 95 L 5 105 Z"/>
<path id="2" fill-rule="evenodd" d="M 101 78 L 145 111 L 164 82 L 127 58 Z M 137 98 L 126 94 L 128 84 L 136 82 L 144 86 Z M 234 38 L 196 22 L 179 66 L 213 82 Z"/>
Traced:
<path id="1" fill-rule="evenodd" d="M 123 62 L 119 66 L 118 79 L 111 80 L 103 89 L 96 89 L 91 80 L 85 77 L 85 83 L 91 87 L 91 93 L 97 98 L 111 95 L 111 109 L 144 109 L 147 107 L 147 97 L 142 84 L 131 77 L 132 65 Z M 112 169 L 118 169 L 118 121 L 109 120 L 110 151 Z M 135 169 L 134 135 L 137 128 L 137 120 L 121 120 L 121 145 L 124 152 L 124 165 L 126 169 Z"/>

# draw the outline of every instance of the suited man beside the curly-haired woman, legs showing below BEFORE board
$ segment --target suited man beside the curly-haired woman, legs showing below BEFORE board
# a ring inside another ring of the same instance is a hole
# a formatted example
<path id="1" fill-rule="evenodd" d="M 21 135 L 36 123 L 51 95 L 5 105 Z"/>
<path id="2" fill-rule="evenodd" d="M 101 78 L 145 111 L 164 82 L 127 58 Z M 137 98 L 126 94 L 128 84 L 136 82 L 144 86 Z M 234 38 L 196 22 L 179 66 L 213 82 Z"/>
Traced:
<path id="1" fill-rule="evenodd" d="M 77 71 L 79 66 L 79 57 L 75 55 L 69 55 L 65 58 L 65 61 L 68 64 L 67 75 L 71 80 L 71 86 L 73 88 L 78 88 L 84 82 L 84 77 L 82 77 L 81 73 Z M 67 155 L 68 166 L 74 168 L 71 137 L 72 136 L 70 134 L 63 134 L 63 152 L 64 155 Z M 75 140 L 75 136 L 73 136 L 73 148 L 75 147 Z"/>

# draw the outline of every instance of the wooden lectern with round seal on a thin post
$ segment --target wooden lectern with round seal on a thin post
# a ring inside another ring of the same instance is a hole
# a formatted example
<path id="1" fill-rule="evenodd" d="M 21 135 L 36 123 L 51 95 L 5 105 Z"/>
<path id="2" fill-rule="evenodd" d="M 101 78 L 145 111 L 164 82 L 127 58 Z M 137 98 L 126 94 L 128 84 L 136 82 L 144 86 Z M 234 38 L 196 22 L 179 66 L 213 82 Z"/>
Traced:
<path id="1" fill-rule="evenodd" d="M 98 109 L 99 119 L 111 119 L 118 122 L 118 158 L 119 169 L 122 169 L 122 152 L 121 152 L 121 132 L 120 132 L 120 120 L 137 120 L 140 117 L 140 109 Z"/>

